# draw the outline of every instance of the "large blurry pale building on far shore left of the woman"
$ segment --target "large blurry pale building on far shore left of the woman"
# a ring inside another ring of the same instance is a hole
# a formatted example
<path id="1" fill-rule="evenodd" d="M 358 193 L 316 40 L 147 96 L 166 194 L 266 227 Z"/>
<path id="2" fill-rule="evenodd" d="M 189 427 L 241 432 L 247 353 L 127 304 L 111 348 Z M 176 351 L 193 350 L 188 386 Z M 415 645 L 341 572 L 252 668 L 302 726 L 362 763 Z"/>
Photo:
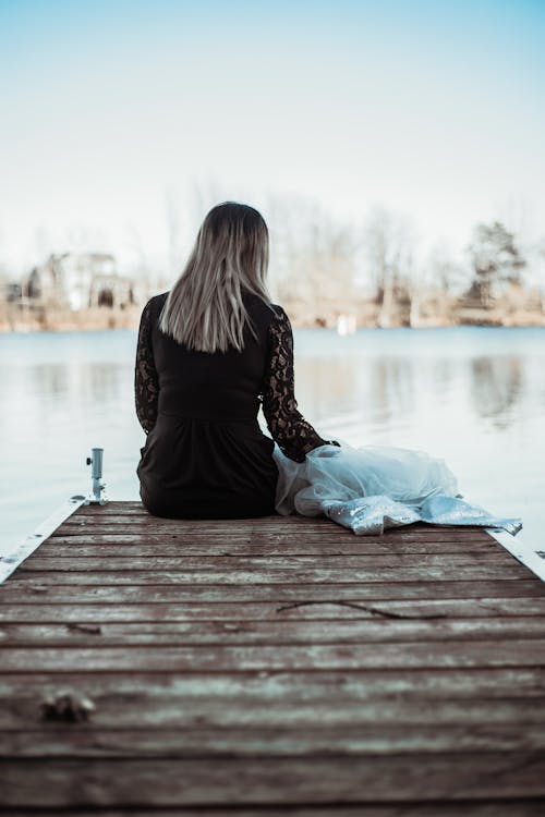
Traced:
<path id="1" fill-rule="evenodd" d="M 124 308 L 134 303 L 132 281 L 116 271 L 116 258 L 106 253 L 52 254 L 35 267 L 26 294 L 43 305 L 73 310 L 96 306 Z"/>

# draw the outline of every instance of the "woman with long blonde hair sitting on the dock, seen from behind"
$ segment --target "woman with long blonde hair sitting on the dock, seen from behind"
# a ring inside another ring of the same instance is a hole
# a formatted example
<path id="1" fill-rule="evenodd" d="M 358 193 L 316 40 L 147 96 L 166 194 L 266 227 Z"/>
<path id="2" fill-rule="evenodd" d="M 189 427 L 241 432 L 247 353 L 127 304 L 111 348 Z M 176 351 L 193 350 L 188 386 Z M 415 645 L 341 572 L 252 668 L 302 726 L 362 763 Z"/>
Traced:
<path id="1" fill-rule="evenodd" d="M 135 395 L 147 439 L 137 474 L 157 516 L 271 514 L 272 440 L 296 462 L 329 442 L 298 411 L 291 326 L 270 303 L 267 266 L 262 216 L 226 202 L 206 216 L 170 292 L 144 308 Z M 272 439 L 257 423 L 259 405 Z"/>

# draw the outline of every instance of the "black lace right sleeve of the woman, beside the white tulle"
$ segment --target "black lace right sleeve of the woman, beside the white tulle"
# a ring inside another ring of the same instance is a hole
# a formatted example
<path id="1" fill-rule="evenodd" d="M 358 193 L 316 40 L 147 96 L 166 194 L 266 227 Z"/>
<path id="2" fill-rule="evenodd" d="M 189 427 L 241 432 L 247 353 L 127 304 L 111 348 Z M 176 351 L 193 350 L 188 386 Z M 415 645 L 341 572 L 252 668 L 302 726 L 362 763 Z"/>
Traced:
<path id="1" fill-rule="evenodd" d="M 281 307 L 269 326 L 269 355 L 263 390 L 263 413 L 272 439 L 290 460 L 304 462 L 308 451 L 324 440 L 298 411 L 293 377 L 293 333 Z M 338 443 L 334 443 L 338 444 Z"/>

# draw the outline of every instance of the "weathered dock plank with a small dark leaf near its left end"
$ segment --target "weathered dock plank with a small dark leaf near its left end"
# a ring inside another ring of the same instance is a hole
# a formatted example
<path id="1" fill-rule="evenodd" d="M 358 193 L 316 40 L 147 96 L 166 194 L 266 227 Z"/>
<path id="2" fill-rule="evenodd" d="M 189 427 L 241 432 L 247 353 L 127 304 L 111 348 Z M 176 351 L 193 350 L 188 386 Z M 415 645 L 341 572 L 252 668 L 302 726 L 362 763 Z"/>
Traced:
<path id="1" fill-rule="evenodd" d="M 506 619 L 428 619 L 400 621 L 383 618 L 348 621 L 252 621 L 244 617 L 228 621 L 0 624 L 0 650 L 4 646 L 100 646 L 146 644 L 182 646 L 374 644 L 390 642 L 488 641 L 543 636 L 545 617 Z M 1 651 L 0 651 L 1 661 Z M 1 664 L 0 664 L 1 666 Z"/>

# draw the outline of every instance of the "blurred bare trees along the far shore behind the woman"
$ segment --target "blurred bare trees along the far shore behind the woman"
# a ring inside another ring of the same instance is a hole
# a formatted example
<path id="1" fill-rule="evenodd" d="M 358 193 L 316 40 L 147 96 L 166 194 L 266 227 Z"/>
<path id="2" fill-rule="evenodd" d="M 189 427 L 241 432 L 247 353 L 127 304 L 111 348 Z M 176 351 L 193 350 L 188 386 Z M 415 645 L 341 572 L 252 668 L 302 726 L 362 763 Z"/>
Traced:
<path id="1" fill-rule="evenodd" d="M 166 196 L 162 269 L 134 233 L 132 268 L 124 266 L 142 297 L 168 289 L 180 273 L 207 198 L 221 200 L 216 191 L 201 192 L 182 218 L 175 197 Z M 423 252 L 410 219 L 385 207 L 372 208 L 359 225 L 303 198 L 269 197 L 262 211 L 271 237 L 272 298 L 295 326 L 335 327 L 347 317 L 383 328 L 545 325 L 545 240 L 529 244 L 501 220 L 475 224 L 456 254 L 445 241 Z M 0 318 L 10 286 L 13 292 L 7 270 L 1 272 Z M 55 316 L 47 325 L 55 326 Z"/>

